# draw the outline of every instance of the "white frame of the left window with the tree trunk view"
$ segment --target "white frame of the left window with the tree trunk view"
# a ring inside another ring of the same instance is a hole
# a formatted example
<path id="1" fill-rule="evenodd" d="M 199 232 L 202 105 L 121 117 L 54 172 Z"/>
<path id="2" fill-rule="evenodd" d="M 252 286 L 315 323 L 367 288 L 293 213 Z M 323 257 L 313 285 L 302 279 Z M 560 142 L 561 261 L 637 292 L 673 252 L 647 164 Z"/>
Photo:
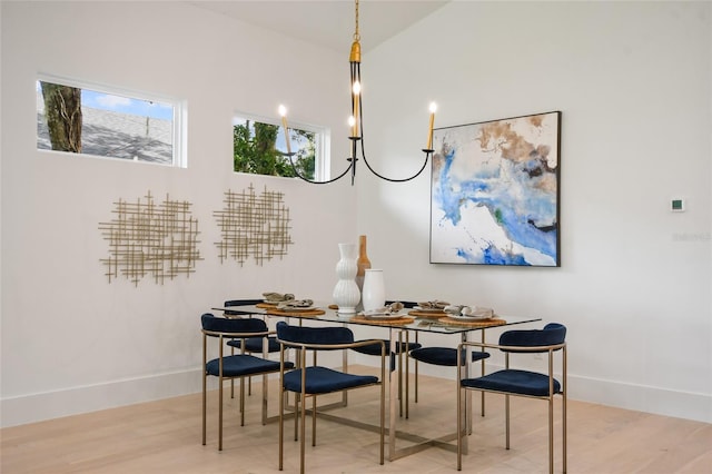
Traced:
<path id="1" fill-rule="evenodd" d="M 130 89 L 127 87 L 118 87 L 118 86 L 108 86 L 99 82 L 92 82 L 89 80 L 68 78 L 63 76 L 57 76 L 51 73 L 38 72 L 34 78 L 34 89 L 37 92 L 37 88 L 39 82 L 51 82 L 60 86 L 73 87 L 82 90 L 90 90 L 92 92 L 106 93 L 109 96 L 119 96 L 125 97 L 127 99 L 132 100 L 141 100 L 141 101 L 154 101 L 162 105 L 172 106 L 172 160 L 171 162 L 151 162 L 146 160 L 138 159 L 126 159 L 118 158 L 109 155 L 95 155 L 87 152 L 71 152 L 71 151 L 61 151 L 61 150 L 52 150 L 44 148 L 37 148 L 38 151 L 42 152 L 56 152 L 62 155 L 72 155 L 72 156 L 85 156 L 89 158 L 103 158 L 111 159 L 117 161 L 129 161 L 132 164 L 142 164 L 142 165 L 156 165 L 156 166 L 166 166 L 170 168 L 187 168 L 188 167 L 188 158 L 187 158 L 187 101 L 185 99 L 178 99 L 176 97 L 171 97 L 164 93 L 157 92 L 147 92 L 139 91 L 135 89 Z M 41 95 L 41 92 L 40 92 Z M 83 106 L 82 106 L 83 107 Z M 34 106 L 36 115 L 39 112 L 38 105 Z M 119 112 L 121 113 L 121 112 Z M 127 113 L 128 115 L 128 113 Z M 36 146 L 37 139 L 39 138 L 37 135 L 37 130 L 34 131 Z"/>

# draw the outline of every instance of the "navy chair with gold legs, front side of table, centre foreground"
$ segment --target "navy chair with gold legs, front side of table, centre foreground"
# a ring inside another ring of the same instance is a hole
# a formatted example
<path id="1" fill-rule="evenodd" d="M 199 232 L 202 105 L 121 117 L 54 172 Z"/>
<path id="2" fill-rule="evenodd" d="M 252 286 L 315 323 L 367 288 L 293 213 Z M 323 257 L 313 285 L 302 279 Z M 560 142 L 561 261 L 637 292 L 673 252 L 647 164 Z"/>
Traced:
<path id="1" fill-rule="evenodd" d="M 279 397 L 279 471 L 284 466 L 284 414 L 285 393 L 293 392 L 296 395 L 295 436 L 297 425 L 300 423 L 299 465 L 300 472 L 305 472 L 305 436 L 306 436 L 306 398 L 312 397 L 312 446 L 316 446 L 316 416 L 317 395 L 344 392 L 352 388 L 372 385 L 380 386 L 380 464 L 384 463 L 385 441 L 385 384 L 386 376 L 386 345 L 383 340 L 368 339 L 354 342 L 354 334 L 347 327 L 301 327 L 289 326 L 287 323 L 277 323 L 277 340 L 280 344 L 279 386 L 283 396 Z M 337 350 L 363 347 L 369 344 L 380 346 L 380 377 L 374 375 L 355 375 L 320 366 L 317 363 L 316 353 L 319 350 Z M 287 348 L 297 349 L 297 367 L 289 369 L 285 353 Z M 312 363 L 307 366 L 307 352 L 314 353 Z"/>

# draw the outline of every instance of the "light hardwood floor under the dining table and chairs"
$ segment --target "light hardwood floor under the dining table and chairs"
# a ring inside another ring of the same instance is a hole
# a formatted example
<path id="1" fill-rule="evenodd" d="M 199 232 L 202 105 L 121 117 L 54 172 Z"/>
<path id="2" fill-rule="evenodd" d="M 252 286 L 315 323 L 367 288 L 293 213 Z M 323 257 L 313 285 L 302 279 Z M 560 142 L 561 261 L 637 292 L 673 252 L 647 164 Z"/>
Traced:
<path id="1" fill-rule="evenodd" d="M 270 415 L 277 412 L 270 383 Z M 454 382 L 421 375 L 419 403 L 398 428 L 446 433 L 455 426 Z M 344 416 L 377 419 L 376 389 L 357 389 Z M 200 394 L 106 409 L 0 431 L 2 474 L 14 473 L 277 473 L 278 424 L 260 424 L 259 384 L 239 426 L 237 399 L 226 403 L 224 451 L 217 450 L 217 392 L 208 399 L 208 444 L 200 440 Z M 475 398 L 477 399 L 477 397 Z M 326 399 L 324 401 L 326 402 Z M 478 405 L 478 404 L 476 404 Z M 556 417 L 561 404 L 556 403 Z M 536 473 L 547 468 L 546 404 L 513 398 L 512 450 L 504 448 L 504 402 L 488 396 L 476 413 L 463 472 Z M 298 443 L 287 423 L 285 472 L 299 470 Z M 307 428 L 308 429 L 308 428 Z M 555 463 L 561 472 L 560 422 Z M 307 432 L 308 436 L 308 432 Z M 456 455 L 431 447 L 378 464 L 377 435 L 329 421 L 317 423 L 317 446 L 307 444 L 307 472 L 455 473 Z M 570 473 L 711 473 L 712 425 L 590 403 L 568 403 Z"/>

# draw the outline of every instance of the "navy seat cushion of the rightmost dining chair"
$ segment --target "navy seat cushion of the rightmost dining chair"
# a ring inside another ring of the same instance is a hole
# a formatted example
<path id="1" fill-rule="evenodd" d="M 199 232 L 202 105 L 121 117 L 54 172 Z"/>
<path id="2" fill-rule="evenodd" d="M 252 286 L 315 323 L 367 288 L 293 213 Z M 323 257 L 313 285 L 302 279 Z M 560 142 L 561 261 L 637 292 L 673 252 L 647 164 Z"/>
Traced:
<path id="1" fill-rule="evenodd" d="M 536 372 L 505 369 L 477 378 L 464 378 L 466 388 L 508 392 L 520 395 L 548 396 L 548 376 Z M 554 393 L 561 392 L 561 384 L 554 379 Z"/>

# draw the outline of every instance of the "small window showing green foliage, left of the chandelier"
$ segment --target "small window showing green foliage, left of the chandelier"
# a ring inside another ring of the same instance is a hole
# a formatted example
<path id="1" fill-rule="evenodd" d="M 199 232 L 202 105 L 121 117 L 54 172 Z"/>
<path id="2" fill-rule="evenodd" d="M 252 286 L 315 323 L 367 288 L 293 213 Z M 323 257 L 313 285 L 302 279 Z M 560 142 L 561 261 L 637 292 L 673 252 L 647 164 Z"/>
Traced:
<path id="1" fill-rule="evenodd" d="M 303 124 L 289 125 L 291 162 L 287 152 L 285 129 L 268 119 L 238 113 L 233 118 L 233 169 L 236 172 L 323 179 L 328 134 L 325 129 Z M 295 172 L 296 169 L 296 172 Z"/>

